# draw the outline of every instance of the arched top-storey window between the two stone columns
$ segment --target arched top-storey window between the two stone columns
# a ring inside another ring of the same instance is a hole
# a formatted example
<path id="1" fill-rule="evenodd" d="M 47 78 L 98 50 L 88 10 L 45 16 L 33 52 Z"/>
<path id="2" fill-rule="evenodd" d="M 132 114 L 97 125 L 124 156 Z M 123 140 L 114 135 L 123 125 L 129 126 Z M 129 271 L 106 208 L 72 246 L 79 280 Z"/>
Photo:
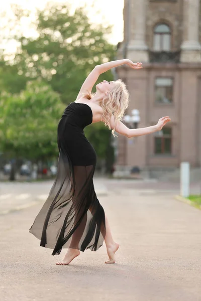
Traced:
<path id="1" fill-rule="evenodd" d="M 154 28 L 154 51 L 171 50 L 171 31 L 168 25 L 158 24 Z"/>

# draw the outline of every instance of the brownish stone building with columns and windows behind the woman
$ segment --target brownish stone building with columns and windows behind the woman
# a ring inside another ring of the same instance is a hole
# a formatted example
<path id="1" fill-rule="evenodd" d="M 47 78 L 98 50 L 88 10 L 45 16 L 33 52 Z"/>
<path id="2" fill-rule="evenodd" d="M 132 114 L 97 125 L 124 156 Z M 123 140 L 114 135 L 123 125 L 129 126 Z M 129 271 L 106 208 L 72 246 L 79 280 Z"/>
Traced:
<path id="1" fill-rule="evenodd" d="M 201 1 L 125 0 L 124 40 L 118 59 L 142 62 L 143 69 L 116 68 L 127 84 L 139 127 L 162 116 L 171 122 L 153 134 L 118 134 L 116 170 L 174 170 L 187 161 L 201 167 Z"/>

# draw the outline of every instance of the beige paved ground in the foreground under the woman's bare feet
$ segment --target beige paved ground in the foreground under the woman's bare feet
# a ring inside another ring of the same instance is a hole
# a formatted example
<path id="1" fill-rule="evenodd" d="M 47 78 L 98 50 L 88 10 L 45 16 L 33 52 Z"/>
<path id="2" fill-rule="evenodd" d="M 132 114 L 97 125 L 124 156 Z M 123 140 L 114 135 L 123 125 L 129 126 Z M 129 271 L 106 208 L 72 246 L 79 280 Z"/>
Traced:
<path id="1" fill-rule="evenodd" d="M 43 201 L 0 216 L 1 300 L 201 300 L 200 210 L 171 193 L 120 185 L 99 201 L 120 243 L 112 265 L 104 263 L 105 244 L 81 252 L 68 266 L 56 265 L 66 249 L 52 256 L 29 233 Z"/>

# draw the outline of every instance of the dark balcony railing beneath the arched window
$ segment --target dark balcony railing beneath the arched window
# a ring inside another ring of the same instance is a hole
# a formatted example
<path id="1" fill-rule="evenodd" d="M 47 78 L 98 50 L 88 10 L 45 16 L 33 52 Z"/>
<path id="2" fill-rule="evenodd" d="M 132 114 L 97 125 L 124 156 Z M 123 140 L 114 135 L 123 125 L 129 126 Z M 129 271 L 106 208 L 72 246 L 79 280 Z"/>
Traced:
<path id="1" fill-rule="evenodd" d="M 150 63 L 179 63 L 180 51 L 150 51 Z"/>

